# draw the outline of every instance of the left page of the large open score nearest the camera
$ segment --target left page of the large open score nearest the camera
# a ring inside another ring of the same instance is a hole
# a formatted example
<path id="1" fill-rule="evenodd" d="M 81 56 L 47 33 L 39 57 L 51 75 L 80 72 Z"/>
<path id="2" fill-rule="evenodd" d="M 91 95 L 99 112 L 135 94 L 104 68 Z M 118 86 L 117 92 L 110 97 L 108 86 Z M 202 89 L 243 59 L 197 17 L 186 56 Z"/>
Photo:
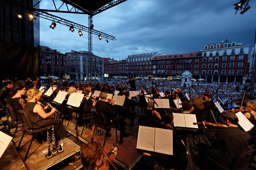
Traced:
<path id="1" fill-rule="evenodd" d="M 139 126 L 137 149 L 154 152 L 155 128 Z"/>

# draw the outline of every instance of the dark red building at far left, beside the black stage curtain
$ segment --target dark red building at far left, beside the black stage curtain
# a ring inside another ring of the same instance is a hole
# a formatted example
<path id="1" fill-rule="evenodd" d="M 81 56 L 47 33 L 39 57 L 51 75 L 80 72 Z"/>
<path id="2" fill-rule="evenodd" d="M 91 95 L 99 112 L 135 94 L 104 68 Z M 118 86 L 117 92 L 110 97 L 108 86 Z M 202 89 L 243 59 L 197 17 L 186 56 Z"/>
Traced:
<path id="1" fill-rule="evenodd" d="M 39 46 L 40 76 L 53 75 L 63 77 L 67 75 L 66 54 L 60 53 L 46 46 Z"/>

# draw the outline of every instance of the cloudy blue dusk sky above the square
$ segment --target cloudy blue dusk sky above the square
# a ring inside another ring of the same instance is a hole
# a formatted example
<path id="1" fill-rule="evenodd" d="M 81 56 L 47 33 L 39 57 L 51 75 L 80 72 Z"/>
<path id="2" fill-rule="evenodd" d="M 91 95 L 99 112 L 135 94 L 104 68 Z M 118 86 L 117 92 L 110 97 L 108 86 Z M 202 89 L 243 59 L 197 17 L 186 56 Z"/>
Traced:
<path id="1" fill-rule="evenodd" d="M 93 35 L 92 50 L 100 57 L 125 59 L 128 55 L 150 53 L 181 54 L 200 51 L 204 45 L 222 40 L 251 45 L 256 27 L 256 2 L 250 1 L 243 15 L 235 15 L 233 4 L 239 0 L 128 0 L 93 17 L 94 29 L 116 37 L 99 40 Z M 56 4 L 61 4 L 57 0 Z M 57 5 L 57 7 L 60 5 Z M 54 9 L 52 0 L 43 0 L 41 9 Z M 66 10 L 65 6 L 61 9 Z M 88 15 L 51 13 L 88 26 Z M 88 33 L 78 35 L 58 23 L 40 18 L 40 45 L 61 53 L 88 50 Z M 250 52 L 249 52 L 250 54 Z"/>

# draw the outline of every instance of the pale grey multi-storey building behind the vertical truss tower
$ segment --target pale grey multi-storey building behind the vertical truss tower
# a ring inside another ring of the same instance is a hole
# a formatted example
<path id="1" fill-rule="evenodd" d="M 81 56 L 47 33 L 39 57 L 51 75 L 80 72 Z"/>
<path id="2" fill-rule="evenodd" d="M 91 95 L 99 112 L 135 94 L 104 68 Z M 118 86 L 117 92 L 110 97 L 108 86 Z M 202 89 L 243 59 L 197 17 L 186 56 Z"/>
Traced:
<path id="1" fill-rule="evenodd" d="M 65 53 L 67 75 L 70 80 L 88 80 L 88 66 L 89 66 L 89 52 L 88 51 L 74 51 Z M 98 79 L 103 74 L 103 58 L 92 54 L 92 79 Z"/>

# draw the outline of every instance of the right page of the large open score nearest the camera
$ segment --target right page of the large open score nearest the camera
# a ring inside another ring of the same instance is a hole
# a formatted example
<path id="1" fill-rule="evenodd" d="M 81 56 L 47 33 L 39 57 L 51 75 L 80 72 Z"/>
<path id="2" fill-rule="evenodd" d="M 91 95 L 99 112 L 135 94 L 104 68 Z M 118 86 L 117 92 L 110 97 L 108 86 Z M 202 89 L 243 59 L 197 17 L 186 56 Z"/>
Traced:
<path id="1" fill-rule="evenodd" d="M 173 131 L 155 128 L 155 152 L 173 155 Z"/>

